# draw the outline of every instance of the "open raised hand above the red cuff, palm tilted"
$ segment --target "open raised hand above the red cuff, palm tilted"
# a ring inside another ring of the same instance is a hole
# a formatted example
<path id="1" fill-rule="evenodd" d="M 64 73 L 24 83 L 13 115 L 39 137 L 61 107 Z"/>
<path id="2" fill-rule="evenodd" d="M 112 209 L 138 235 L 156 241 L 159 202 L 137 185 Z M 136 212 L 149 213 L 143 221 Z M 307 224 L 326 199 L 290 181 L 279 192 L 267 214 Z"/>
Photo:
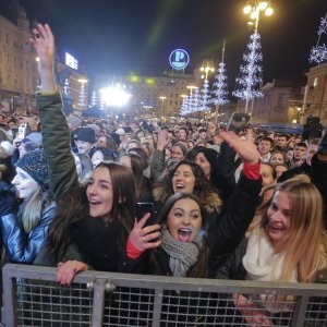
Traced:
<path id="1" fill-rule="evenodd" d="M 220 132 L 220 137 L 226 141 L 242 158 L 244 162 L 255 165 L 259 161 L 259 153 L 253 143 L 253 132 L 247 130 L 246 141 L 241 140 L 234 132 Z"/>

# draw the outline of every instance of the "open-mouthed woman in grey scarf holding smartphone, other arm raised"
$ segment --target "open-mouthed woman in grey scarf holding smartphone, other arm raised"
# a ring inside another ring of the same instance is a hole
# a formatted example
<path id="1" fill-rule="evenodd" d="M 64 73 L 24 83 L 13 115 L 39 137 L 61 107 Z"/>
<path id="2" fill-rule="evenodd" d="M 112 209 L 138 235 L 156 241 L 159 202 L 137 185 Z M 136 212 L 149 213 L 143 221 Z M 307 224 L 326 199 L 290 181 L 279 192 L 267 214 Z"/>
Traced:
<path id="1" fill-rule="evenodd" d="M 241 141 L 233 132 L 221 133 L 221 137 L 244 161 L 242 178 L 227 211 L 208 230 L 198 197 L 187 189 L 174 193 L 168 197 L 159 213 L 160 244 L 157 243 L 159 230 L 145 227 L 147 217 L 135 223 L 126 249 L 128 258 L 136 262 L 130 266 L 130 272 L 137 266 L 145 274 L 213 277 L 215 268 L 238 246 L 258 203 L 259 155 L 252 142 Z M 192 170 L 187 172 L 187 179 L 189 184 L 193 183 L 194 186 Z M 146 251 L 154 247 L 152 253 Z"/>

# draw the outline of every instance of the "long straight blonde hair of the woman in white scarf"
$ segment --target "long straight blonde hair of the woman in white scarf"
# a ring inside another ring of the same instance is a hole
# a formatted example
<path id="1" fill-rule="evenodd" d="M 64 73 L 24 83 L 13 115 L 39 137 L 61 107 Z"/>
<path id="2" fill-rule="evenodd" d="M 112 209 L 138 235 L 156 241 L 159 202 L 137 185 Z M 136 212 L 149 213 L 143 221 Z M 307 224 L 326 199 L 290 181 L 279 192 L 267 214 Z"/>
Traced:
<path id="1" fill-rule="evenodd" d="M 284 253 L 280 281 L 289 281 L 293 271 L 300 282 L 313 282 L 318 270 L 327 265 L 327 238 L 323 225 L 323 198 L 307 175 L 298 175 L 276 187 L 290 199 L 290 228 L 274 245 L 276 253 Z M 268 222 L 267 215 L 263 227 Z"/>

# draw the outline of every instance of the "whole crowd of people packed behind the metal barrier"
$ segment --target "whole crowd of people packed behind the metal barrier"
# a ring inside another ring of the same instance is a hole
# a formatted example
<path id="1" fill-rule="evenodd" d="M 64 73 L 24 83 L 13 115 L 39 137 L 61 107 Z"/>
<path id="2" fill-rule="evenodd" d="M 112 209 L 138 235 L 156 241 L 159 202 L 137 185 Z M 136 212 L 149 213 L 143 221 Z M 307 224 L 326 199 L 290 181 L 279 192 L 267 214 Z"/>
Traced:
<path id="1" fill-rule="evenodd" d="M 82 125 L 62 110 L 50 27 L 38 24 L 31 43 L 40 132 L 0 130 L 8 262 L 56 266 L 61 284 L 87 269 L 326 282 L 327 134 L 258 134 L 243 113 L 227 131 L 213 122 Z M 137 203 L 153 210 L 136 218 Z M 269 324 L 271 303 L 262 302 L 254 316 Z M 255 306 L 242 294 L 233 304 Z"/>

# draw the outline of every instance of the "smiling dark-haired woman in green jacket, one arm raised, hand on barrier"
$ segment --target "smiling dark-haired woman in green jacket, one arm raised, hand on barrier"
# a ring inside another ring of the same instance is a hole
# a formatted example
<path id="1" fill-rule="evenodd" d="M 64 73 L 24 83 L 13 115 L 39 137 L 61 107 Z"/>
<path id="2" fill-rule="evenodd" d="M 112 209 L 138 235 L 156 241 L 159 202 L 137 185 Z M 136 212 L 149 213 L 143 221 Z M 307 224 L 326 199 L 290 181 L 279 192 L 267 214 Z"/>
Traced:
<path id="1" fill-rule="evenodd" d="M 135 184 L 131 170 L 100 162 L 86 189 L 77 182 L 70 132 L 53 78 L 55 40 L 48 25 L 37 25 L 32 39 L 39 56 L 43 90 L 37 95 L 44 148 L 49 157 L 50 185 L 58 203 L 46 246 L 35 264 L 58 265 L 58 281 L 69 284 L 92 266 L 118 271 L 135 217 Z M 60 129 L 58 128 L 60 126 Z"/>

